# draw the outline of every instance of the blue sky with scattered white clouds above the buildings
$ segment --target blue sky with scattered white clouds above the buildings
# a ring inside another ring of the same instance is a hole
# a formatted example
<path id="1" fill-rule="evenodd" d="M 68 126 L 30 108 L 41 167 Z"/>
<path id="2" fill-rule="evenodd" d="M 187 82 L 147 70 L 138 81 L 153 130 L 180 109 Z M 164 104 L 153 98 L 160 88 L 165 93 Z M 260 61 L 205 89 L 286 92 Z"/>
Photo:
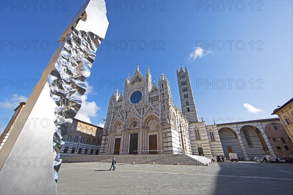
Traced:
<path id="1" fill-rule="evenodd" d="M 14 3 L 14 4 L 12 4 Z M 1 131 L 28 98 L 63 30 L 84 1 L 1 1 Z M 187 66 L 207 124 L 271 116 L 293 97 L 293 1 L 106 1 L 109 27 L 97 51 L 80 118 L 99 124 L 136 64 L 167 76 Z M 211 84 L 209 84 L 211 83 Z"/>

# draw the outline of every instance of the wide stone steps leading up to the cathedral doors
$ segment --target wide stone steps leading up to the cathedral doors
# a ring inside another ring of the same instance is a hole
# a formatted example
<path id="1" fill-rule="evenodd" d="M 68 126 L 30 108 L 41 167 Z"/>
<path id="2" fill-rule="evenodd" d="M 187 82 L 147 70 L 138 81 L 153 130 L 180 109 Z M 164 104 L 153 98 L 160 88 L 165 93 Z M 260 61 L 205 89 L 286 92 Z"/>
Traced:
<path id="1" fill-rule="evenodd" d="M 113 155 L 81 155 L 62 156 L 63 162 L 108 162 Z M 115 155 L 117 164 L 169 164 L 169 165 L 209 165 L 187 155 Z"/>

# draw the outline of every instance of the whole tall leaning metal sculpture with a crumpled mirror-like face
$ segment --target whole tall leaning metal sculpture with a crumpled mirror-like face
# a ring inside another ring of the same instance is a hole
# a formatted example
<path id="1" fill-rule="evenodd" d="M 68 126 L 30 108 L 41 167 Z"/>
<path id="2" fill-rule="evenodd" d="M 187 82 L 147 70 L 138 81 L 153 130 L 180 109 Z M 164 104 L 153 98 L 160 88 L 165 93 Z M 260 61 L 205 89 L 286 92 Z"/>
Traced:
<path id="1" fill-rule="evenodd" d="M 84 81 L 107 28 L 105 1 L 86 0 L 27 99 L 21 125 L 14 125 L 0 150 L 0 194 L 57 194 L 62 138 L 81 108 Z"/>

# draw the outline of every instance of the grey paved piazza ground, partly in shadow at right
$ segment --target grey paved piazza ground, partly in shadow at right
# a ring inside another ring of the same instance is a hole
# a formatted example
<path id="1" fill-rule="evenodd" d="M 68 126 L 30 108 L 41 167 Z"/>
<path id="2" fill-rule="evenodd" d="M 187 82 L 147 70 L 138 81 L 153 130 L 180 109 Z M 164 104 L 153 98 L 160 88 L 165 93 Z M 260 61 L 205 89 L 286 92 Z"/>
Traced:
<path id="1" fill-rule="evenodd" d="M 101 195 L 292 195 L 293 163 L 226 162 L 210 166 L 63 163 L 58 193 Z"/>

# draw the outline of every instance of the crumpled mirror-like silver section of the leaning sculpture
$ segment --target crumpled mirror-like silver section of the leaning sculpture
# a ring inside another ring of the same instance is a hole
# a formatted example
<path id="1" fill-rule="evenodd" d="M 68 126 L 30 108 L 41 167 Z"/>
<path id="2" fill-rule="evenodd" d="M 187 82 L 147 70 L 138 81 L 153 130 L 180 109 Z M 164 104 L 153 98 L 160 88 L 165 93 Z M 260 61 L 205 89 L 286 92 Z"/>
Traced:
<path id="1" fill-rule="evenodd" d="M 94 33 L 74 29 L 64 43 L 59 59 L 47 79 L 50 96 L 58 106 L 55 109 L 56 128 L 53 135 L 56 182 L 62 162 L 60 152 L 65 143 L 62 138 L 67 135 L 72 119 L 82 106 L 82 96 L 86 91 L 84 81 L 90 75 L 96 51 L 102 40 Z"/>

